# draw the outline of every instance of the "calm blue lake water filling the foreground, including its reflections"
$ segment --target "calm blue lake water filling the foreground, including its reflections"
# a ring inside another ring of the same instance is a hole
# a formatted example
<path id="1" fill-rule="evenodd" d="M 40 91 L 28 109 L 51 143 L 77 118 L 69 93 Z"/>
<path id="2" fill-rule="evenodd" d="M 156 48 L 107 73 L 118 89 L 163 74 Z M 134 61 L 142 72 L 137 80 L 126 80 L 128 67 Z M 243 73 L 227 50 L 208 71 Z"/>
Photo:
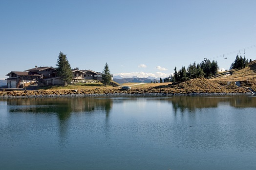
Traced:
<path id="1" fill-rule="evenodd" d="M 256 170 L 256 97 L 0 99 L 1 170 Z"/>

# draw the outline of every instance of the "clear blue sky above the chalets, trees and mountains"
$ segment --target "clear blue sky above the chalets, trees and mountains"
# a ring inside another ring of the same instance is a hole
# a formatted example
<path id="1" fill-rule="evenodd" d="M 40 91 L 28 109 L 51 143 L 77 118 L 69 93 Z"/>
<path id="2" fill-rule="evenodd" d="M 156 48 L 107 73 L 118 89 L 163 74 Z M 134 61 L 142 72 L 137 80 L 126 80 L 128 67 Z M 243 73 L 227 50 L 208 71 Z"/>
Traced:
<path id="1" fill-rule="evenodd" d="M 255 7 L 256 0 L 0 0 L 0 78 L 55 67 L 60 51 L 72 68 L 102 72 L 107 62 L 124 77 L 163 78 L 204 58 L 228 69 L 238 50 L 256 45 Z M 245 52 L 256 59 L 256 46 Z"/>

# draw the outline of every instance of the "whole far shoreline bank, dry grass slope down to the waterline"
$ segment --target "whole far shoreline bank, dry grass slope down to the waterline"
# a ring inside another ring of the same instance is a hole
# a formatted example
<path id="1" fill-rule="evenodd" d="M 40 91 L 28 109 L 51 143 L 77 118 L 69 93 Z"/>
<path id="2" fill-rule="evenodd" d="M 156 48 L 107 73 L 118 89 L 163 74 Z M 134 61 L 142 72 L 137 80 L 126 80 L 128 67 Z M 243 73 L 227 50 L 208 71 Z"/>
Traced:
<path id="1" fill-rule="evenodd" d="M 3 90 L 0 98 L 91 97 L 91 96 L 223 96 L 256 94 L 256 81 L 212 81 L 198 78 L 181 83 L 134 85 L 125 90 L 100 84 L 68 85 L 37 90 Z"/>

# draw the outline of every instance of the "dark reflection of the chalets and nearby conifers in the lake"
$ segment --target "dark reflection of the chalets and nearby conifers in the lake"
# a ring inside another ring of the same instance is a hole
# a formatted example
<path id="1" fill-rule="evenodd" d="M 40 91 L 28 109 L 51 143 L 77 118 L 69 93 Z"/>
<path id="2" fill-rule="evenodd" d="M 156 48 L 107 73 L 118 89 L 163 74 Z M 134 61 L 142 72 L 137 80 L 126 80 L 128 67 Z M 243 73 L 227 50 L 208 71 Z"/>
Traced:
<path id="1" fill-rule="evenodd" d="M 93 112 L 106 111 L 106 116 L 112 107 L 111 99 L 99 98 L 18 98 L 7 99 L 7 105 L 15 105 L 10 107 L 11 113 L 56 113 L 60 120 L 68 119 L 72 112 Z"/>

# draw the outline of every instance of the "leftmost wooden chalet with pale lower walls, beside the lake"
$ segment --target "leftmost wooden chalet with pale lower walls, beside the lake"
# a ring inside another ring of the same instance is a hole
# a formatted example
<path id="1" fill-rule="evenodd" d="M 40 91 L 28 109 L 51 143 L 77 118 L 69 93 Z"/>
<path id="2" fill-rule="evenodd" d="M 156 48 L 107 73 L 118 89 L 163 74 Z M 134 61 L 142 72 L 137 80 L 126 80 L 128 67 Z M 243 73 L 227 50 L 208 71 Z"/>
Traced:
<path id="1" fill-rule="evenodd" d="M 40 74 L 25 71 L 11 71 L 6 76 L 9 76 L 5 79 L 7 80 L 7 88 L 24 88 L 25 84 L 32 84 L 41 79 Z"/>

